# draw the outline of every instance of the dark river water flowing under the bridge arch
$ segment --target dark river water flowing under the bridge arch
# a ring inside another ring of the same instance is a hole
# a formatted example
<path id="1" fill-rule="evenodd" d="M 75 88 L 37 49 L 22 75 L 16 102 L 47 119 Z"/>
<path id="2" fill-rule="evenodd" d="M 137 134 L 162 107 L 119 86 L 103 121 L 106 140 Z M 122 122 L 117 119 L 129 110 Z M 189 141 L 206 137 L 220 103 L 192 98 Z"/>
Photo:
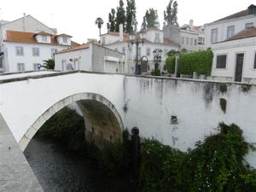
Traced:
<path id="1" fill-rule="evenodd" d="M 24 151 L 45 192 L 132 192 L 130 176 L 108 177 L 95 160 L 51 138 L 35 136 Z"/>

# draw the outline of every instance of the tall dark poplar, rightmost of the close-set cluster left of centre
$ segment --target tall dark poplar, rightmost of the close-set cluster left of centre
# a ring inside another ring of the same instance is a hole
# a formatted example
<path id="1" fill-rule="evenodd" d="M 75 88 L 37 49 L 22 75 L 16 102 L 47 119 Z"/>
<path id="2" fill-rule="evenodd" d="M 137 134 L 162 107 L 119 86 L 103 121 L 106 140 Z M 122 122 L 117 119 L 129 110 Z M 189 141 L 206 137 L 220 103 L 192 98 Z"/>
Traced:
<path id="1" fill-rule="evenodd" d="M 137 31 L 135 0 L 127 0 L 125 32 Z"/>

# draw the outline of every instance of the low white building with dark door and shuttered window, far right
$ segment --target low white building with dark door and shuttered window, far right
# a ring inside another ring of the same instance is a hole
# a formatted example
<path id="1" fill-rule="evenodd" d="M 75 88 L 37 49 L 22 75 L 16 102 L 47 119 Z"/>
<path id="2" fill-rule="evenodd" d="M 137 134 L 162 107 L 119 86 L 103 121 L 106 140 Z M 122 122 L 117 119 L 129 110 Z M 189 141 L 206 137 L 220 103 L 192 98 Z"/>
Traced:
<path id="1" fill-rule="evenodd" d="M 211 79 L 256 84 L 256 28 L 212 44 Z"/>

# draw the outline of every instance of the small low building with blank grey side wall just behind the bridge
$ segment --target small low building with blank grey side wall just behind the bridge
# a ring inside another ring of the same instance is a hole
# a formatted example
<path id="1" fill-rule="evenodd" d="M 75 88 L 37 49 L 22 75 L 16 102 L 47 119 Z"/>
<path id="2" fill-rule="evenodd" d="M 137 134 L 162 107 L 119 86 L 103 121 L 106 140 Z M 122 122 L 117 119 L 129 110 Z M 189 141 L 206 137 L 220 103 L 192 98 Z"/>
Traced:
<path id="1" fill-rule="evenodd" d="M 95 42 L 56 52 L 55 70 L 66 71 L 67 62 L 71 58 L 75 70 L 125 73 L 125 54 L 105 48 Z"/>

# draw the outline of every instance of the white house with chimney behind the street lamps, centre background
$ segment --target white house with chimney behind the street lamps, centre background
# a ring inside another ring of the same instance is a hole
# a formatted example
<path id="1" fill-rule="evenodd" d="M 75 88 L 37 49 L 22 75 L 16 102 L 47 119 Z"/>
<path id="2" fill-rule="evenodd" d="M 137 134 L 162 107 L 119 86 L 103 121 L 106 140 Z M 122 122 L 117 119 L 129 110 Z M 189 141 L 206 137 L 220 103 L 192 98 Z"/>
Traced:
<path id="1" fill-rule="evenodd" d="M 136 45 L 136 40 L 140 42 Z M 143 44 L 142 44 L 143 41 Z M 141 73 L 150 73 L 155 67 L 154 49 L 161 49 L 160 71 L 166 64 L 167 52 L 171 49 L 179 49 L 179 45 L 173 43 L 167 38 L 164 38 L 162 30 L 149 28 L 146 30 L 146 37 L 140 36 L 139 32 L 135 34 L 135 40 L 131 44 L 131 39 L 128 33 L 123 32 L 123 26 L 120 25 L 119 32 L 108 32 L 101 35 L 101 44 L 109 49 L 117 50 L 124 53 L 125 56 L 125 73 L 135 73 L 137 65 L 140 66 Z"/>

